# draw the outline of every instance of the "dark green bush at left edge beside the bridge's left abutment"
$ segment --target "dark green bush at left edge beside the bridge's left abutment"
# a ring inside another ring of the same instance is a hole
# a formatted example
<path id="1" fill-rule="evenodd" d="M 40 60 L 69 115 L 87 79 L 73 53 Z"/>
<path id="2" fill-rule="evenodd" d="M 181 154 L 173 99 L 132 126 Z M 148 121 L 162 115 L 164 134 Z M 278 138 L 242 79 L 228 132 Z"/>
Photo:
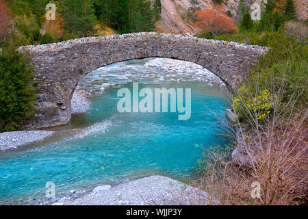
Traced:
<path id="1" fill-rule="evenodd" d="M 29 55 L 5 42 L 0 52 L 0 131 L 20 129 L 25 118 L 33 112 L 32 70 Z"/>

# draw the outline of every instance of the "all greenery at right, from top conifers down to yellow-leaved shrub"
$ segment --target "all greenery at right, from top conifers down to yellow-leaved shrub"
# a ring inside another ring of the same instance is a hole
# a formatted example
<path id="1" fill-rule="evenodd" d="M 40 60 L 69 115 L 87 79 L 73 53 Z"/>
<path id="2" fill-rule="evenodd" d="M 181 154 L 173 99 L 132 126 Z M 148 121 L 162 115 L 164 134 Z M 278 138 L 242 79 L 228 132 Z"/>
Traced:
<path id="1" fill-rule="evenodd" d="M 257 68 L 250 69 L 247 81 L 238 90 L 238 96 L 234 97 L 233 107 L 240 120 L 249 123 L 251 112 L 257 112 L 258 120 L 264 119 L 264 114 L 270 115 L 272 104 L 276 103 L 277 99 L 274 97 L 277 94 L 274 88 L 281 86 L 285 87 L 284 92 L 279 96 L 280 107 L 277 110 L 281 113 L 290 113 L 287 112 L 290 109 L 287 109 L 285 104 L 290 101 L 292 95 L 297 97 L 295 108 L 292 110 L 298 113 L 305 110 L 308 81 L 308 27 L 305 22 L 297 21 L 294 1 L 287 0 L 283 10 L 279 10 L 275 1 L 269 0 L 265 5 L 261 21 L 257 22 L 251 20 L 244 1 L 241 1 L 240 7 L 244 15 L 240 29 L 234 34 L 221 34 L 216 37 L 209 33 L 199 35 L 215 40 L 270 48 L 270 51 L 259 59 Z M 268 85 L 268 81 L 271 81 L 271 86 Z M 253 96 L 248 95 L 251 93 Z"/>

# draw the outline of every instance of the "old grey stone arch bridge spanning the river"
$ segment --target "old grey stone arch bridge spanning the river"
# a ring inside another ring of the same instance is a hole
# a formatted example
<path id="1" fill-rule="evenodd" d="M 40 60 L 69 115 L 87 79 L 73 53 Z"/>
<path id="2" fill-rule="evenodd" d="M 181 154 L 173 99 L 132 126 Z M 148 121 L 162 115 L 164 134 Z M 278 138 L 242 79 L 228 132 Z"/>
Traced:
<path id="1" fill-rule="evenodd" d="M 36 114 L 24 129 L 65 125 L 70 100 L 86 74 L 115 62 L 146 57 L 168 57 L 194 62 L 216 74 L 229 90 L 236 88 L 248 67 L 256 64 L 266 47 L 206 40 L 174 34 L 137 33 L 90 37 L 57 44 L 21 47 L 32 55 Z"/>

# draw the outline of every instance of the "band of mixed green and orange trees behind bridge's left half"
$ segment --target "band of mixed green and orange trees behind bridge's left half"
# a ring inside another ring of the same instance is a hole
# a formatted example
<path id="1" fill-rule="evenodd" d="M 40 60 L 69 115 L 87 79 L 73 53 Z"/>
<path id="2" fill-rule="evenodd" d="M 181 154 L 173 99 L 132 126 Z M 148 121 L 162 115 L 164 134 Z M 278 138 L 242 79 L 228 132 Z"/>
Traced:
<path id="1" fill-rule="evenodd" d="M 25 44 L 60 42 L 71 38 L 95 36 L 101 28 L 111 27 L 118 34 L 153 31 L 162 12 L 155 0 L 1 0 L 12 11 L 12 27 L 27 40 Z M 55 21 L 45 18 L 46 5 L 56 5 Z M 49 34 L 44 36 L 45 32 Z M 41 34 L 42 33 L 42 34 Z M 64 36 L 65 35 L 65 36 Z M 50 37 L 51 36 L 51 37 Z M 42 38 L 42 40 L 41 40 Z M 51 39 L 52 38 L 52 39 Z"/>

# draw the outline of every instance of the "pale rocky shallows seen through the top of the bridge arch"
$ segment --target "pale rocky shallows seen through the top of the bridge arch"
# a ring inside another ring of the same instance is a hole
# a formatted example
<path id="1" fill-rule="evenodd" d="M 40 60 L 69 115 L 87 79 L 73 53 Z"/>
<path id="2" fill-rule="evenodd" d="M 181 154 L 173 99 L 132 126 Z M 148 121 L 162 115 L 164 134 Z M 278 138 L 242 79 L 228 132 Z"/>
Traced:
<path id="1" fill-rule="evenodd" d="M 226 87 L 224 81 L 214 73 L 192 62 L 157 57 L 116 62 L 98 68 L 80 79 L 73 91 L 71 112 L 72 114 L 86 112 L 90 106 L 89 97 L 99 95 L 109 88 L 120 88 L 126 83 L 177 84 L 180 81 Z M 223 92 L 227 92 L 227 89 Z"/>

